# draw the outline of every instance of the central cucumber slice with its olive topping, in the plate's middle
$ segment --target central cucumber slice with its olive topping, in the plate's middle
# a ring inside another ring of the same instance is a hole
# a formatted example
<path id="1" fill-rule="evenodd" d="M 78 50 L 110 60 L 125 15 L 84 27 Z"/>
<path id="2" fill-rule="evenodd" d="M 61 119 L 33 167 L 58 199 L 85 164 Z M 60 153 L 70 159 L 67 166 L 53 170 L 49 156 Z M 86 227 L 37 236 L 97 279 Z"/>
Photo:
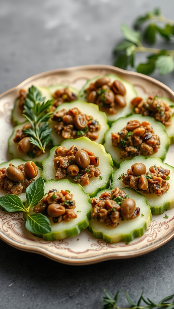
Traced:
<path id="1" fill-rule="evenodd" d="M 104 146 L 86 137 L 67 139 L 53 147 L 42 166 L 44 180 L 67 178 L 81 184 L 90 197 L 109 187 L 113 171 L 111 156 Z"/>

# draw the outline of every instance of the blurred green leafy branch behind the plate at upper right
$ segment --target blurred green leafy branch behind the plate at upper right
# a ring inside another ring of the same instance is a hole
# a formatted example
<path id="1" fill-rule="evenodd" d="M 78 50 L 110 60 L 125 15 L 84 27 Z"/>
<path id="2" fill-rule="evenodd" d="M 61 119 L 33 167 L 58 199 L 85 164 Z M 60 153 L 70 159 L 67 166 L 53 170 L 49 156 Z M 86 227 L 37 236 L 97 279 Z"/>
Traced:
<path id="1" fill-rule="evenodd" d="M 159 24 L 162 26 L 159 26 Z M 126 24 L 121 25 L 124 40 L 118 43 L 114 49 L 114 65 L 122 69 L 132 66 L 137 72 L 151 74 L 155 69 L 159 74 L 165 75 L 174 71 L 174 49 L 157 49 L 145 47 L 143 42 L 152 45 L 158 37 L 166 41 L 174 38 L 174 20 L 165 19 L 159 9 L 147 12 L 140 16 L 134 23 L 134 30 Z M 149 53 L 147 61 L 135 67 L 136 53 Z"/>

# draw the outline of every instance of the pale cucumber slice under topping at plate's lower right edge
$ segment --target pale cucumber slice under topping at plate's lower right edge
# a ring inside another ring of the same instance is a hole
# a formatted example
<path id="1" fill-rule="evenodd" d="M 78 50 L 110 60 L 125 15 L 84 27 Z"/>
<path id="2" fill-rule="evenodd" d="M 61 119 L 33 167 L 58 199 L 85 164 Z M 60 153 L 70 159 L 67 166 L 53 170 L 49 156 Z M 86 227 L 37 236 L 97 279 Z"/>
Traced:
<path id="1" fill-rule="evenodd" d="M 168 165 L 167 163 L 163 163 L 159 158 L 145 158 L 142 156 L 134 157 L 132 160 L 124 161 L 120 164 L 120 168 L 116 170 L 113 173 L 112 176 L 112 183 L 111 188 L 119 187 L 123 188 L 126 187 L 126 185 L 122 182 L 122 179 L 119 180 L 119 176 L 123 173 L 126 173 L 128 169 L 131 168 L 131 166 L 137 162 L 143 163 L 147 171 L 151 166 L 162 166 L 163 168 L 167 168 L 170 170 L 170 179 L 168 180 L 168 183 L 170 184 L 170 187 L 166 193 L 164 193 L 162 196 L 157 196 L 156 194 L 143 194 L 146 199 L 148 205 L 150 205 L 150 209 L 152 211 L 152 214 L 159 215 L 163 214 L 165 210 L 171 209 L 174 207 L 174 190 L 172 187 L 172 183 L 174 181 L 174 167 Z M 128 187 L 128 186 L 127 186 Z"/>

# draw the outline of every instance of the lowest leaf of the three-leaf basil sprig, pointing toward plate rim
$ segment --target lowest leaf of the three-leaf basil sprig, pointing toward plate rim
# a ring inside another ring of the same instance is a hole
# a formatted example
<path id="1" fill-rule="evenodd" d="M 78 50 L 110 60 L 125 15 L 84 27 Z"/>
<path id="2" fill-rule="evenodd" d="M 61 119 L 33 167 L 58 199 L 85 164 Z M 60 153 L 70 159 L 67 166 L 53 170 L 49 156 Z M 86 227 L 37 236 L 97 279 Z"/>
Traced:
<path id="1" fill-rule="evenodd" d="M 25 227 L 31 233 L 46 234 L 51 232 L 50 221 L 43 214 L 27 215 Z"/>

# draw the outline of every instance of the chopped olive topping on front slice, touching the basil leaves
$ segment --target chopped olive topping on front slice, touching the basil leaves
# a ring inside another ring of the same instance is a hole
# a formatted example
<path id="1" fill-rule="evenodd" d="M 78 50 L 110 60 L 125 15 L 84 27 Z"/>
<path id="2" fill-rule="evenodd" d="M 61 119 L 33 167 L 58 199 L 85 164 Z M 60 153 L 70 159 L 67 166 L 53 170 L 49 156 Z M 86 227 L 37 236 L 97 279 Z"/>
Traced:
<path id="1" fill-rule="evenodd" d="M 33 211 L 38 214 L 45 214 L 48 217 L 52 217 L 54 223 L 60 223 L 62 221 L 69 222 L 72 219 L 77 218 L 77 214 L 74 209 L 76 203 L 73 200 L 73 194 L 67 190 L 56 189 L 49 190 L 41 201 L 34 206 Z"/>

